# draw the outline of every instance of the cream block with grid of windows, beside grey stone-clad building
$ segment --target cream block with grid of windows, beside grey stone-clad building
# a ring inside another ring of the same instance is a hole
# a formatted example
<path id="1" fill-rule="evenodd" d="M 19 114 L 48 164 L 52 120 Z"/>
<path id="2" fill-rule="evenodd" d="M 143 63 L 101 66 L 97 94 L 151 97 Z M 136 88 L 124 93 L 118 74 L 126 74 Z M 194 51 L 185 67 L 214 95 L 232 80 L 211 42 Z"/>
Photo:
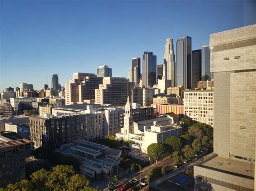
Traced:
<path id="1" fill-rule="evenodd" d="M 185 117 L 213 126 L 213 90 L 185 90 Z"/>

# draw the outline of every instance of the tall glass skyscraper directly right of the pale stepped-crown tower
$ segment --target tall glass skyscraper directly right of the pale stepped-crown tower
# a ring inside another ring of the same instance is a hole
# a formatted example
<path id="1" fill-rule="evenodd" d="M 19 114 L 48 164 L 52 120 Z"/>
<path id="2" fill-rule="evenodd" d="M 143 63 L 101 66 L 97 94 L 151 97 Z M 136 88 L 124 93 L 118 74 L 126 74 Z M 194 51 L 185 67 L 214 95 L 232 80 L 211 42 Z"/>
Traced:
<path id="1" fill-rule="evenodd" d="M 176 43 L 176 86 L 190 89 L 192 86 L 192 40 L 191 37 L 180 37 Z"/>

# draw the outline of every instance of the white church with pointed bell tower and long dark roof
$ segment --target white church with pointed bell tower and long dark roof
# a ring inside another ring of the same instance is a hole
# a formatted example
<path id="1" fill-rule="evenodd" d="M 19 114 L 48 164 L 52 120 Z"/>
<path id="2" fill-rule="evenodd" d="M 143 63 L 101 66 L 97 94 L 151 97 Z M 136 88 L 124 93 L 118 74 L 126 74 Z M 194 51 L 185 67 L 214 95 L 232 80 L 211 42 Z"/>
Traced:
<path id="1" fill-rule="evenodd" d="M 134 122 L 131 113 L 132 105 L 127 98 L 125 105 L 124 128 L 116 133 L 118 139 L 124 141 L 132 140 L 132 150 L 147 153 L 147 146 L 152 143 L 164 143 L 165 139 L 171 136 L 181 135 L 181 126 L 176 114 L 170 113 L 146 121 Z"/>

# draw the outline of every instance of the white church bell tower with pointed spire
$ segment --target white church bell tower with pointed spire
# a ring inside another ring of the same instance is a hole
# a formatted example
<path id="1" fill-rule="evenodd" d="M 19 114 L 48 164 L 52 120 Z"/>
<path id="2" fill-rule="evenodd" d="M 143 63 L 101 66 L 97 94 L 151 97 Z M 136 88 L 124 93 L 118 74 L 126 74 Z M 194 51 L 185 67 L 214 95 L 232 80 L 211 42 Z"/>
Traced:
<path id="1" fill-rule="evenodd" d="M 129 96 L 127 97 L 127 103 L 125 104 L 125 116 L 124 116 L 124 140 L 128 140 L 130 137 L 130 133 L 134 132 L 133 127 L 133 116 L 132 116 L 132 105 L 129 100 Z"/>

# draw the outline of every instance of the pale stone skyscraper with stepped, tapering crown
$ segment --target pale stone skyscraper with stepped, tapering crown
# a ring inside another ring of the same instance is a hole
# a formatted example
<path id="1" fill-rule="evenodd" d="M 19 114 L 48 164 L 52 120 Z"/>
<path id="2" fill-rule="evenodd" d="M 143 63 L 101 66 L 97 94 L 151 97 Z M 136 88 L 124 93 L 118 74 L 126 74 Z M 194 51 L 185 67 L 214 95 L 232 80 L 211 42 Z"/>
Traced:
<path id="1" fill-rule="evenodd" d="M 165 43 L 165 52 L 164 52 L 164 64 L 165 68 L 165 76 L 167 76 L 167 80 L 171 80 L 172 87 L 175 86 L 175 56 L 173 51 L 173 43 L 172 38 L 167 38 Z"/>

